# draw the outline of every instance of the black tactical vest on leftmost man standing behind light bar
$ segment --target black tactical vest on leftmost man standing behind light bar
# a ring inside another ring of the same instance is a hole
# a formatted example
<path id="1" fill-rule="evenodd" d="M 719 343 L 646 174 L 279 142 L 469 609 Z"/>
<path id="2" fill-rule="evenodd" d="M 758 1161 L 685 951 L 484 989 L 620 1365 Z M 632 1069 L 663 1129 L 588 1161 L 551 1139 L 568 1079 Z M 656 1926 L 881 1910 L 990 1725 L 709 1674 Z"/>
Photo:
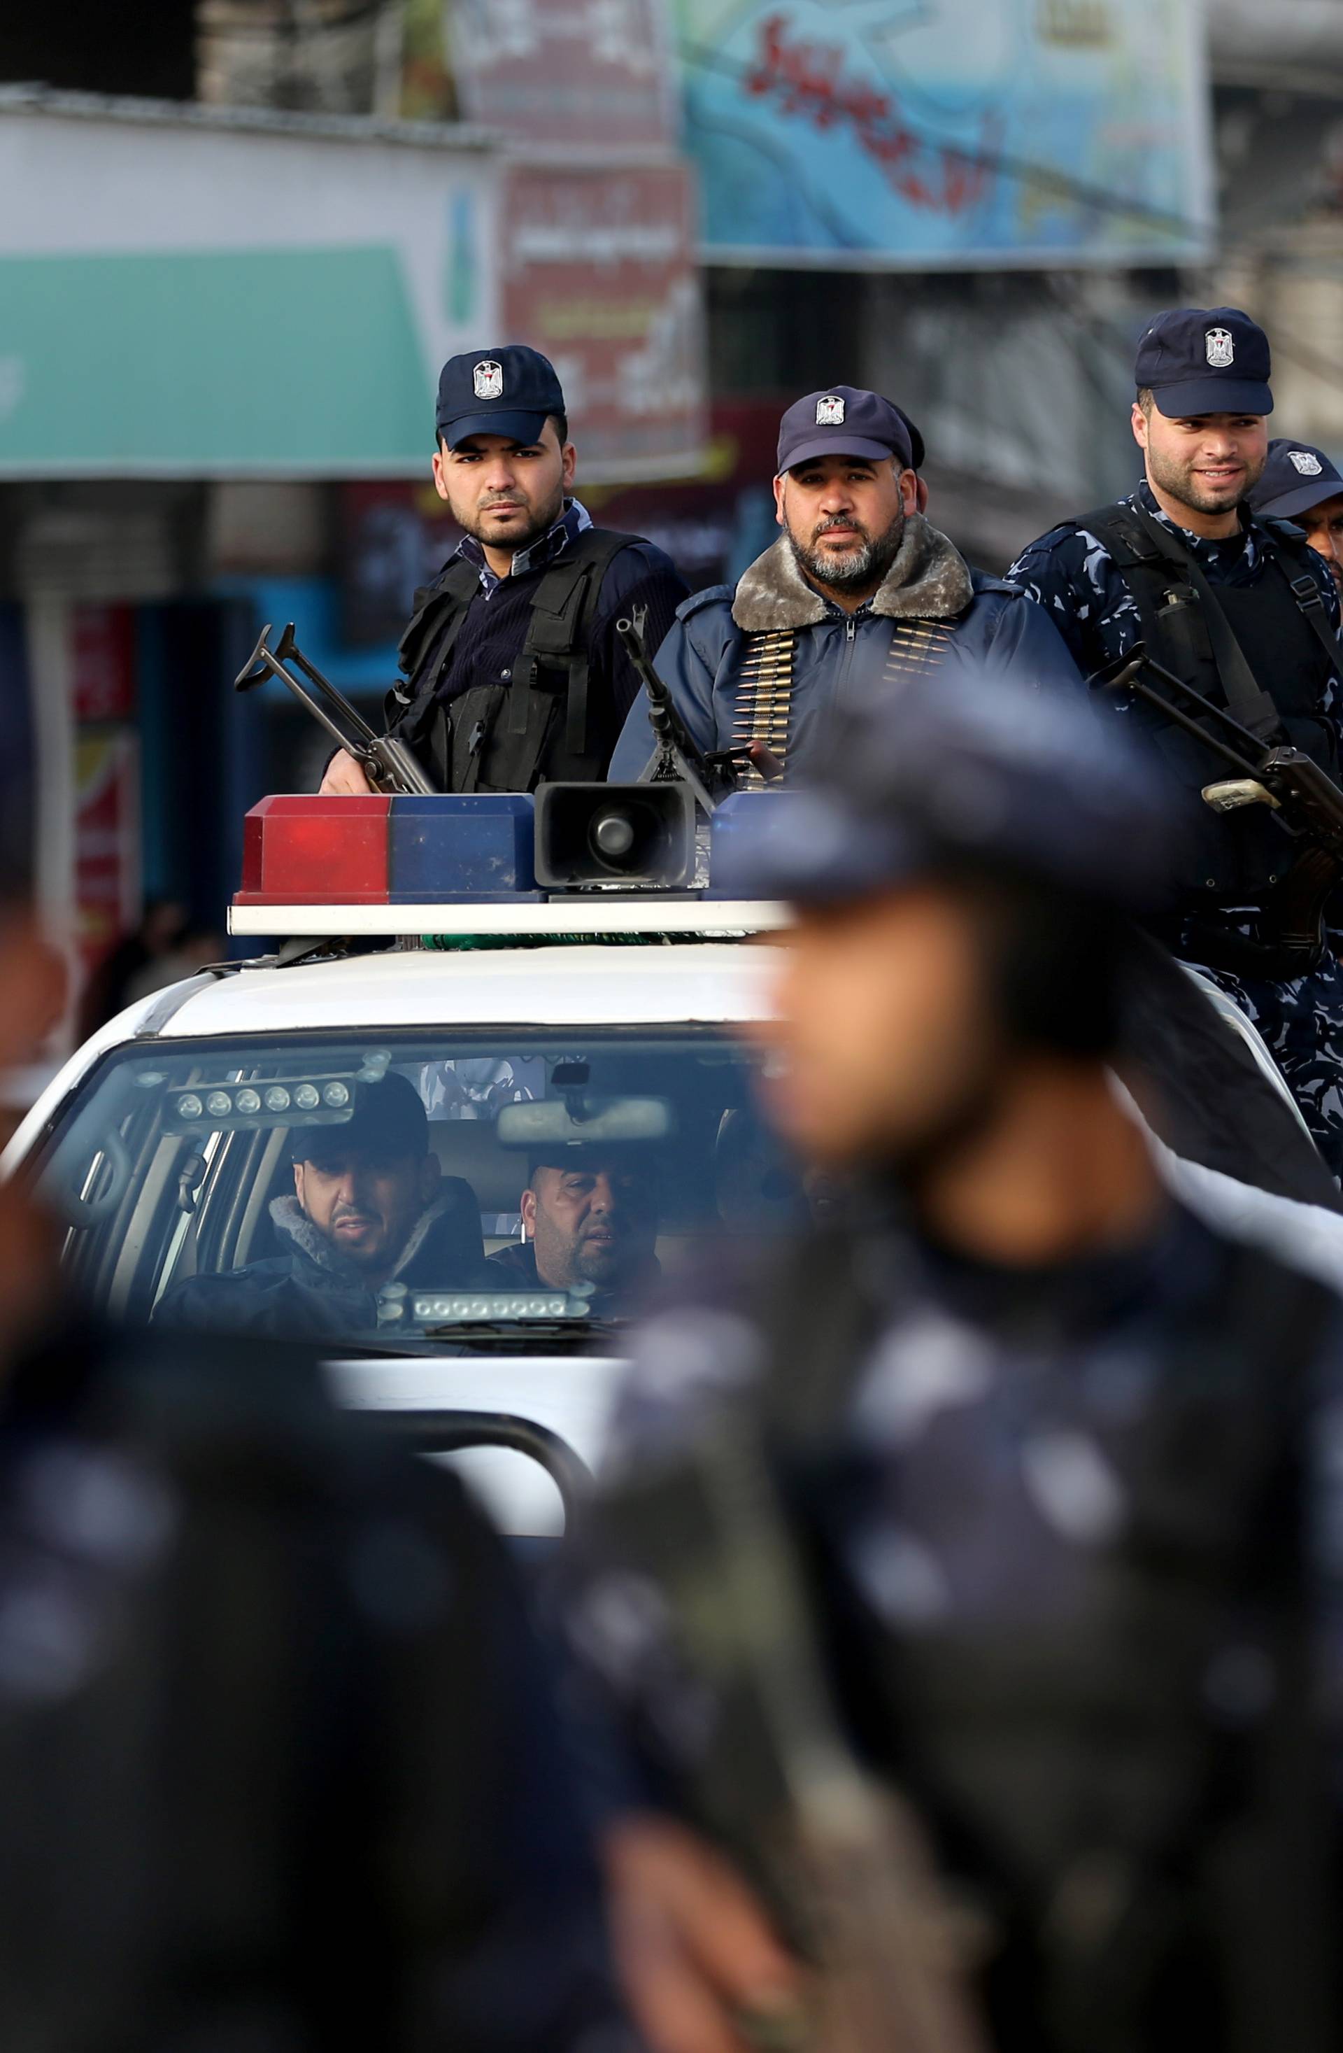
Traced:
<path id="1" fill-rule="evenodd" d="M 542 780 L 606 774 L 608 751 L 593 743 L 587 708 L 587 643 L 602 579 L 632 540 L 585 528 L 536 587 L 511 680 L 470 684 L 448 704 L 437 688 L 481 579 L 456 556 L 415 593 L 398 649 L 407 684 L 388 692 L 388 733 L 415 749 L 444 790 L 534 790 Z"/>

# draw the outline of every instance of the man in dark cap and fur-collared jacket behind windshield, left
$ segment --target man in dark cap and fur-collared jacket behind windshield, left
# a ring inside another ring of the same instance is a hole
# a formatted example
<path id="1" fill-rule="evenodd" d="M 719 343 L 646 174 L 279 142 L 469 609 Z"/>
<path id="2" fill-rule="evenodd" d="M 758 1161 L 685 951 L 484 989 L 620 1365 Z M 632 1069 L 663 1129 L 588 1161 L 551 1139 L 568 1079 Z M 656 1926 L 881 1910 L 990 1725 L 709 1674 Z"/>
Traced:
<path id="1" fill-rule="evenodd" d="M 294 1127 L 294 1195 L 271 1201 L 279 1254 L 185 1277 L 158 1324 L 209 1332 L 349 1334 L 378 1324 L 378 1291 L 481 1287 L 489 1275 L 474 1193 L 444 1178 L 415 1086 L 392 1072 L 359 1088 L 343 1125 Z"/>

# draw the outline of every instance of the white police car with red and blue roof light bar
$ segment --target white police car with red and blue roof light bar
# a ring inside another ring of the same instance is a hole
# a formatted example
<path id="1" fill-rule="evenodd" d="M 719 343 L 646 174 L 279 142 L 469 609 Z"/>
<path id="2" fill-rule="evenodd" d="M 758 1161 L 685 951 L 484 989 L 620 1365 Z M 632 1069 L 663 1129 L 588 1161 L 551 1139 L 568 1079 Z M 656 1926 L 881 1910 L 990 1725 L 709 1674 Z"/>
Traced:
<path id="1" fill-rule="evenodd" d="M 538 1156 L 608 1150 L 626 1166 L 643 1189 L 641 1281 L 657 1269 L 669 1289 L 721 1242 L 807 1219 L 803 1183 L 756 1113 L 758 1053 L 741 1031 L 768 1012 L 784 907 L 715 897 L 713 846 L 682 790 L 550 790 L 540 805 L 263 801 L 230 926 L 283 946 L 127 1008 L 55 1076 L 0 1162 L 35 1178 L 66 1226 L 72 1287 L 107 1314 L 170 1322 L 201 1279 L 232 1279 L 238 1330 L 285 1330 L 253 1324 L 269 1314 L 246 1279 L 283 1271 L 304 1135 L 329 1139 L 388 1076 L 409 1080 L 460 1232 L 429 1273 L 394 1273 L 357 1322 L 316 1339 L 343 1402 L 427 1454 L 452 1451 L 522 1536 L 563 1525 L 600 1456 L 624 1347 L 618 1289 L 598 1300 L 520 1261 Z M 729 799 L 713 844 L 745 809 L 780 803 Z M 1226 1020 L 1292 1107 L 1253 1029 L 1230 1006 Z M 1195 1205 L 1232 1224 L 1267 1209 L 1300 1252 L 1314 1207 L 1283 1215 L 1281 1201 L 1166 1162 Z M 1318 1217 L 1337 1279 L 1343 1222 Z"/>

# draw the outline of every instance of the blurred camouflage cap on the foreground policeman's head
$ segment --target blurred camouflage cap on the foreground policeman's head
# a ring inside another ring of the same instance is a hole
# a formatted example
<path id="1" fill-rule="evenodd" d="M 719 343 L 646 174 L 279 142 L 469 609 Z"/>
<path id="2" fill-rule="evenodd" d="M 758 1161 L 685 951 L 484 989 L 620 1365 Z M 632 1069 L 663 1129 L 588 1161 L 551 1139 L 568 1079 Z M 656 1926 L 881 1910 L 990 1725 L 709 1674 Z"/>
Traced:
<path id="1" fill-rule="evenodd" d="M 743 809 L 745 813 L 745 809 Z M 826 768 L 768 795 L 715 850 L 715 887 L 842 903 L 949 864 L 1014 873 L 1125 912 L 1173 891 L 1179 805 L 1160 768 L 1084 698 L 1000 669 L 865 696 Z"/>

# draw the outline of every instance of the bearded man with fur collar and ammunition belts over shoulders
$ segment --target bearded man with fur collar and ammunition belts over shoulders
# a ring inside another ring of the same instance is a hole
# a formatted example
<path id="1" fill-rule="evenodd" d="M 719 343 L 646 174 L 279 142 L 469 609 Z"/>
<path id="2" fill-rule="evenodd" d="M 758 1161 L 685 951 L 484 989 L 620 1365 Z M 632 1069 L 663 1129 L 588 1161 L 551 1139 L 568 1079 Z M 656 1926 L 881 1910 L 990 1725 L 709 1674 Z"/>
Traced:
<path id="1" fill-rule="evenodd" d="M 686 599 L 657 653 L 702 749 L 760 741 L 805 770 L 852 690 L 893 700 L 924 671 L 955 673 L 986 657 L 1076 682 L 1039 610 L 971 569 L 924 517 L 922 456 L 914 423 L 879 392 L 830 386 L 789 406 L 774 478 L 782 536 L 735 589 L 713 585 Z M 612 776 L 639 776 L 649 745 L 641 696 Z"/>

